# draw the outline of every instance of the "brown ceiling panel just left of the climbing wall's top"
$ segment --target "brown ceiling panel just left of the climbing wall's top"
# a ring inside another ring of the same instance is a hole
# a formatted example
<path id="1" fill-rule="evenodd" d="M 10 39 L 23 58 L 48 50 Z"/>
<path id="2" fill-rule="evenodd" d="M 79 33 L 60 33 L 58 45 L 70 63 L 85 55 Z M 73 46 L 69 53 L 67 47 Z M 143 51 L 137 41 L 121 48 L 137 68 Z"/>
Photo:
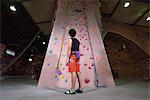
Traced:
<path id="1" fill-rule="evenodd" d="M 55 0 L 27 0 L 22 2 L 35 23 L 48 21 L 51 19 Z"/>

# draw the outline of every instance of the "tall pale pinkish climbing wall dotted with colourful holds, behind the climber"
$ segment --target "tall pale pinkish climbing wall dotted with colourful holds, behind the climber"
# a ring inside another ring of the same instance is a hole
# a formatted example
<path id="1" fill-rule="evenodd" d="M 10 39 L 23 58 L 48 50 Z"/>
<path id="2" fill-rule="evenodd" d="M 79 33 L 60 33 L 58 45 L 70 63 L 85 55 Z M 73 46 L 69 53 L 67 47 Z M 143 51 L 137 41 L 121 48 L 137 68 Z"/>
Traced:
<path id="1" fill-rule="evenodd" d="M 70 38 L 68 31 L 71 28 L 77 31 L 76 38 L 81 43 L 80 67 L 84 88 L 113 86 L 114 81 L 103 41 L 96 19 L 91 16 L 93 12 L 88 0 L 59 0 L 57 5 L 56 19 L 38 86 L 65 89 L 71 87 L 70 73 L 66 66 L 67 40 Z"/>

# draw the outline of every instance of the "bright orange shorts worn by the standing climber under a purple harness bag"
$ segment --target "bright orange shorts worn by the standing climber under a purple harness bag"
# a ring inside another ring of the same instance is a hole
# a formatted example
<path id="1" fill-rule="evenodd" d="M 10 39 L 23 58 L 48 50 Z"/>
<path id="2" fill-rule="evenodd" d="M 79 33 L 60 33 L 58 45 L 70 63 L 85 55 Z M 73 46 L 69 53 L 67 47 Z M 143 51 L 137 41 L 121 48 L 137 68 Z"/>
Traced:
<path id="1" fill-rule="evenodd" d="M 70 56 L 70 62 L 68 64 L 69 72 L 80 72 L 80 64 L 79 59 L 77 59 L 76 55 Z"/>

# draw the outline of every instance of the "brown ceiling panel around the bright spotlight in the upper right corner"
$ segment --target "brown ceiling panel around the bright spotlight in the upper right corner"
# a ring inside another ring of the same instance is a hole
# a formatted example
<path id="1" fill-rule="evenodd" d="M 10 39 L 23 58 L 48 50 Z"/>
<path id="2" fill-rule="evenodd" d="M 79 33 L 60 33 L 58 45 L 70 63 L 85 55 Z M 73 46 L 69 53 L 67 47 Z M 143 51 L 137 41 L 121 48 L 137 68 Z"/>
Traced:
<path id="1" fill-rule="evenodd" d="M 124 23 L 134 23 L 149 8 L 148 3 L 132 1 L 128 8 L 123 7 L 123 1 L 120 2 L 112 19 Z"/>

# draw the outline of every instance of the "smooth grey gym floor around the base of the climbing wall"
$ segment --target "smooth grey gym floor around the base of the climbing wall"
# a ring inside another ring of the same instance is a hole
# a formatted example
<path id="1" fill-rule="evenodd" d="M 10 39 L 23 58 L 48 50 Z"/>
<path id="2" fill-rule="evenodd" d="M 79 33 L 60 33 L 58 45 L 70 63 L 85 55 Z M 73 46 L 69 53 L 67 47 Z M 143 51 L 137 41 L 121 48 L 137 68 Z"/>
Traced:
<path id="1" fill-rule="evenodd" d="M 122 81 L 82 94 L 65 95 L 65 90 L 37 88 L 37 81 L 8 78 L 0 81 L 0 100 L 149 100 L 149 82 Z"/>

